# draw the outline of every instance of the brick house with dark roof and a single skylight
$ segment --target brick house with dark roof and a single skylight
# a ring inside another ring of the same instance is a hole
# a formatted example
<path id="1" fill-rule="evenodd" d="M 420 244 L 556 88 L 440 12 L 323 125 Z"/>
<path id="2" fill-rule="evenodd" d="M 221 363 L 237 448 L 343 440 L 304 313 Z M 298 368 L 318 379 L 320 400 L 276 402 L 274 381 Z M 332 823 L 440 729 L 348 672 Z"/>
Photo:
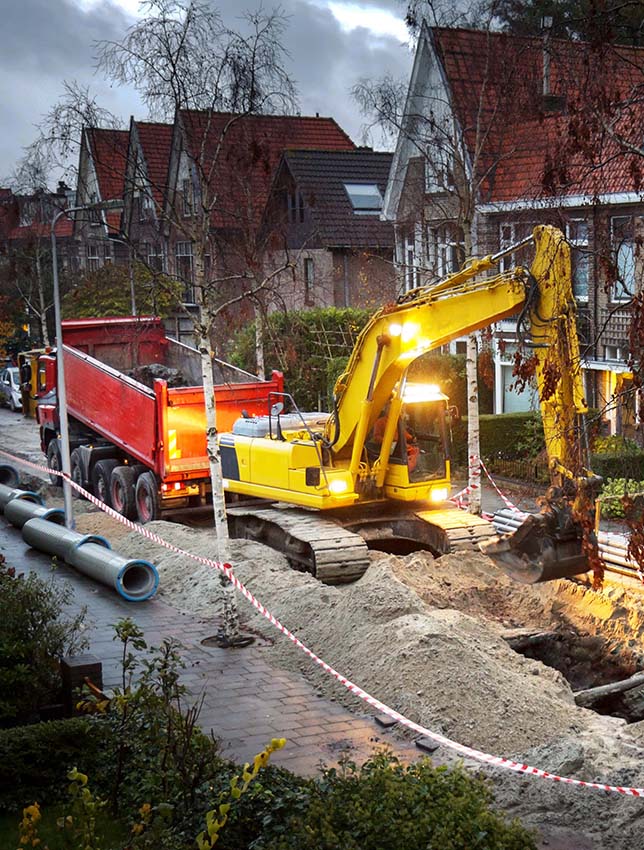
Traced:
<path id="1" fill-rule="evenodd" d="M 284 303 L 375 309 L 395 297 L 393 228 L 380 219 L 391 160 L 368 148 L 283 154 L 265 221 L 279 235 L 273 262 L 284 250 L 297 261 Z"/>

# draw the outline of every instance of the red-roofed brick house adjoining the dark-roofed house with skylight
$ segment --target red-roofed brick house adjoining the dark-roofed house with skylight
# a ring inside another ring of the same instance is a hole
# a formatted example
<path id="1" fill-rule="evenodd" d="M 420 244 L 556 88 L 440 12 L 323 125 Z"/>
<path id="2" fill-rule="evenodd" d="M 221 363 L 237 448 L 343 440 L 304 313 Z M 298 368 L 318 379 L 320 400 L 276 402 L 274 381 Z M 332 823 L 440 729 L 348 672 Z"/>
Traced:
<path id="1" fill-rule="evenodd" d="M 236 299 L 221 316 L 222 339 L 231 327 L 253 316 L 251 300 L 240 292 L 252 290 L 264 275 L 274 235 L 266 227 L 264 211 L 282 152 L 354 147 L 332 118 L 177 113 L 164 216 L 168 265 L 183 281 L 187 303 L 195 301 L 197 213 L 205 205 L 210 215 L 206 275 L 217 281 L 221 301 Z"/>

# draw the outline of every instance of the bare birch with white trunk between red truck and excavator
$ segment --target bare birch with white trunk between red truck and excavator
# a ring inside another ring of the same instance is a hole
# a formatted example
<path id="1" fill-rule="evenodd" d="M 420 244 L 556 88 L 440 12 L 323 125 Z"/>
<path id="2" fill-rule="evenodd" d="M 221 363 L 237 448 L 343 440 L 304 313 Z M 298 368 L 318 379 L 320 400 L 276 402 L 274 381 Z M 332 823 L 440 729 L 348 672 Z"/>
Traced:
<path id="1" fill-rule="evenodd" d="M 253 138 L 253 119 L 292 112 L 295 88 L 285 70 L 280 12 L 249 13 L 237 32 L 199 2 L 149 0 L 145 8 L 148 15 L 122 41 L 98 45 L 98 67 L 116 82 L 133 84 L 151 115 L 174 115 L 180 133 L 169 191 L 157 204 L 157 218 L 171 238 L 190 246 L 183 276 L 197 305 L 194 328 L 202 361 L 215 528 L 219 560 L 226 563 L 213 333 L 220 317 L 240 305 L 255 304 L 261 315 L 264 293 L 291 265 L 286 256 L 280 267 L 264 270 L 266 243 L 258 209 L 262 192 L 257 187 L 266 180 L 270 151 L 259 137 Z M 222 583 L 224 632 L 232 641 L 238 633 L 235 596 L 223 577 Z"/>

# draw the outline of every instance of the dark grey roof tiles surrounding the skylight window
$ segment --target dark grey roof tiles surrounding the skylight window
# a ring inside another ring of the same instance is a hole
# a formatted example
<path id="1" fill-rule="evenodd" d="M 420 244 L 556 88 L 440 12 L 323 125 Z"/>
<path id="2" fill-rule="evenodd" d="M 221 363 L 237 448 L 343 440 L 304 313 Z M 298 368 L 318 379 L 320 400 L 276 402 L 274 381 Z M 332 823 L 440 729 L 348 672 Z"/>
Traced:
<path id="1" fill-rule="evenodd" d="M 377 185 L 384 197 L 393 154 L 289 150 L 285 162 L 311 212 L 315 240 L 323 245 L 391 248 L 393 227 L 378 215 L 355 213 L 345 183 Z"/>

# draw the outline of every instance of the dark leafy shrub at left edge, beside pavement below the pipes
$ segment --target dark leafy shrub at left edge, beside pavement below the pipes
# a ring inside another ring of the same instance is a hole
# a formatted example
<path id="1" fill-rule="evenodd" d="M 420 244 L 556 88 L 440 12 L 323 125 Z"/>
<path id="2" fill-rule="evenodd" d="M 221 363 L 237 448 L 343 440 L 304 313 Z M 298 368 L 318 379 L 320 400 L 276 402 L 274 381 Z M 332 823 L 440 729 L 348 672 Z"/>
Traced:
<path id="1" fill-rule="evenodd" d="M 0 556 L 0 559 L 2 556 Z M 67 584 L 17 574 L 0 560 L 0 723 L 33 719 L 40 706 L 55 702 L 59 661 L 87 646 L 84 612 L 67 619 L 73 597 Z"/>

